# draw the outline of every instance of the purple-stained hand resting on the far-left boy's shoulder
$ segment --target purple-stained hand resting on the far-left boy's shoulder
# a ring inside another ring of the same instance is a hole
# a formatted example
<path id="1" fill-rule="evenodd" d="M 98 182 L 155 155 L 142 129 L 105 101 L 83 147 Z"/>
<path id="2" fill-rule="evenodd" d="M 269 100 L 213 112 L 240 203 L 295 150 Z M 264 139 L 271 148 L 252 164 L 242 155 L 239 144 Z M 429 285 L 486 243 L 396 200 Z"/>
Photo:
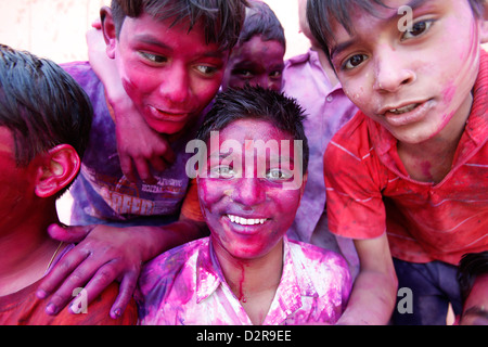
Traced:
<path id="1" fill-rule="evenodd" d="M 56 224 L 49 228 L 53 239 L 67 243 L 82 241 L 56 264 L 38 288 L 40 298 L 57 288 L 49 300 L 47 313 L 57 314 L 73 299 L 76 288 L 85 287 L 89 304 L 111 283 L 119 281 L 119 294 L 111 317 L 117 319 L 123 314 L 136 290 L 143 261 L 141 247 L 137 246 L 138 237 L 129 229 L 108 226 L 62 228 Z M 132 246 L 128 247 L 129 243 Z"/>

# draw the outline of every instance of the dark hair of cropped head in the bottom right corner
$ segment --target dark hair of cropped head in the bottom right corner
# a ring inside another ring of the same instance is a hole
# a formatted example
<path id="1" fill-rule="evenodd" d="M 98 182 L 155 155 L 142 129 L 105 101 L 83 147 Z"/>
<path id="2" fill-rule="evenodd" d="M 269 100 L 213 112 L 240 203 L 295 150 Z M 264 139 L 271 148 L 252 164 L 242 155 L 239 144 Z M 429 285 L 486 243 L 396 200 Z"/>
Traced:
<path id="1" fill-rule="evenodd" d="M 488 250 L 465 254 L 459 264 L 458 281 L 463 301 L 470 295 L 477 275 L 488 273 Z"/>

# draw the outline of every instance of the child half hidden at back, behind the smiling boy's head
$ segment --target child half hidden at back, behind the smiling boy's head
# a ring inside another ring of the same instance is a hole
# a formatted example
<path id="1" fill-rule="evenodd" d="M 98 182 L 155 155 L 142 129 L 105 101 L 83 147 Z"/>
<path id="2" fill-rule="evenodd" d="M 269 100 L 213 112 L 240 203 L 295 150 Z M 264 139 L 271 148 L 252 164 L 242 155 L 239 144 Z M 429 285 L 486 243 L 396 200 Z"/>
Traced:
<path id="1" fill-rule="evenodd" d="M 222 90 L 251 85 L 281 91 L 285 51 L 284 30 L 274 12 L 262 1 L 249 1 L 223 75 Z"/>

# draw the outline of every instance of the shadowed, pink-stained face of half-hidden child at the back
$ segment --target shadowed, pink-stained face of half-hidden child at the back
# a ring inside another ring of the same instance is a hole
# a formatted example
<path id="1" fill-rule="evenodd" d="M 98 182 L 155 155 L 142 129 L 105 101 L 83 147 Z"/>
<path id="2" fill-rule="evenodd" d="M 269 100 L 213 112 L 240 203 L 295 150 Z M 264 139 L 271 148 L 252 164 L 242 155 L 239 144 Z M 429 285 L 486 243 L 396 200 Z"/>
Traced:
<path id="1" fill-rule="evenodd" d="M 248 83 L 281 91 L 284 54 L 285 48 L 279 41 L 264 41 L 260 35 L 237 44 L 229 57 L 222 89 Z"/>

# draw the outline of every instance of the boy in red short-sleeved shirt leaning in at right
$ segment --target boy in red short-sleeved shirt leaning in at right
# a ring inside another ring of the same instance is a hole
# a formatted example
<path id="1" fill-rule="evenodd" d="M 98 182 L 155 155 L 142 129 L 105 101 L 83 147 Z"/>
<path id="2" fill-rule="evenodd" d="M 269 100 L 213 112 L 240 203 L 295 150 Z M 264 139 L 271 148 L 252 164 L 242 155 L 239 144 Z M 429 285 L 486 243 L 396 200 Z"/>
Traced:
<path id="1" fill-rule="evenodd" d="M 413 293 L 396 323 L 445 324 L 449 301 L 460 312 L 455 267 L 488 248 L 487 14 L 483 0 L 309 1 L 361 111 L 324 157 L 329 227 L 361 264 L 342 323 L 387 323 L 396 275 Z"/>

